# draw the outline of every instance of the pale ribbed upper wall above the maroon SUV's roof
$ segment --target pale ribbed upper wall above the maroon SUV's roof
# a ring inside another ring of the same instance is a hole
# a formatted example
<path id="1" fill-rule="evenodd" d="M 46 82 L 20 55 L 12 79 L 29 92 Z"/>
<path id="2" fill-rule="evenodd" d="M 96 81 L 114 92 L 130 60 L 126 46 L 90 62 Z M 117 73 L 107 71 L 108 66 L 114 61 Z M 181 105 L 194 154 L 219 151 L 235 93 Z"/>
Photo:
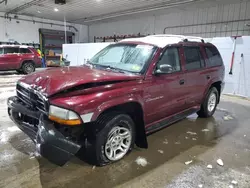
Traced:
<path id="1" fill-rule="evenodd" d="M 139 18 L 96 23 L 89 26 L 89 40 L 94 36 L 104 37 L 125 34 L 168 34 L 197 35 L 202 37 L 224 37 L 249 35 L 250 2 L 231 4 L 192 4 L 181 9 L 153 12 Z"/>

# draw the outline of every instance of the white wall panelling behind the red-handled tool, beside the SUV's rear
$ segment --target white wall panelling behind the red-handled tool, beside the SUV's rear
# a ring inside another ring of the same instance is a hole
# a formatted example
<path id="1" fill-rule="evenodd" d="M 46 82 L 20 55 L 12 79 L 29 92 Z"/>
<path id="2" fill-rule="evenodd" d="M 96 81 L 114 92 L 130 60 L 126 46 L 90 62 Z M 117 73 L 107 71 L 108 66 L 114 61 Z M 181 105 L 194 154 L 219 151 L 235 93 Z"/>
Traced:
<path id="1" fill-rule="evenodd" d="M 223 58 L 225 65 L 224 93 L 240 95 L 250 98 L 250 37 L 243 36 L 236 39 L 235 58 L 232 75 L 229 74 L 234 38 L 220 37 L 206 39 L 213 43 Z M 243 57 L 241 57 L 243 54 Z"/>

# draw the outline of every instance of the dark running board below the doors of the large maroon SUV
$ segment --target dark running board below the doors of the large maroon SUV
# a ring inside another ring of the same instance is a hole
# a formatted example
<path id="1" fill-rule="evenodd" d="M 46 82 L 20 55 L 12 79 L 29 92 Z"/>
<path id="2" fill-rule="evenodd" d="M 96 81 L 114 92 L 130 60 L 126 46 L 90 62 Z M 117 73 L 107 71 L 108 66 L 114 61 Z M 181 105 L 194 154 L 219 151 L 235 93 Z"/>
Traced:
<path id="1" fill-rule="evenodd" d="M 166 119 L 163 119 L 162 121 L 159 121 L 157 123 L 153 123 L 150 126 L 146 127 L 146 133 L 149 134 L 149 133 L 158 131 L 159 129 L 162 129 L 164 127 L 167 127 L 168 125 L 171 125 L 177 121 L 180 121 L 180 120 L 186 118 L 187 116 L 190 116 L 190 115 L 196 113 L 197 111 L 199 111 L 199 109 L 191 108 L 191 109 L 185 110 L 179 114 L 176 114 L 176 115 L 170 116 Z"/>

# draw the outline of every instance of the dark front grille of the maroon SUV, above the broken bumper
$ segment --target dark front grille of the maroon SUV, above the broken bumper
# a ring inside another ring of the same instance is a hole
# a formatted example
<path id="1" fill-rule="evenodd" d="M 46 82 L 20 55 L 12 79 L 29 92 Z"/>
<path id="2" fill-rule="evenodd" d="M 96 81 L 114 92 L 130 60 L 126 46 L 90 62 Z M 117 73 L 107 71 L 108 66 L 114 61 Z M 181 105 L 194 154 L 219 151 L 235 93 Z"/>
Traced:
<path id="1" fill-rule="evenodd" d="M 38 94 L 36 90 L 25 88 L 20 84 L 17 84 L 17 97 L 29 106 L 33 110 L 41 111 L 47 113 L 48 105 L 47 101 L 43 99 L 42 96 Z"/>

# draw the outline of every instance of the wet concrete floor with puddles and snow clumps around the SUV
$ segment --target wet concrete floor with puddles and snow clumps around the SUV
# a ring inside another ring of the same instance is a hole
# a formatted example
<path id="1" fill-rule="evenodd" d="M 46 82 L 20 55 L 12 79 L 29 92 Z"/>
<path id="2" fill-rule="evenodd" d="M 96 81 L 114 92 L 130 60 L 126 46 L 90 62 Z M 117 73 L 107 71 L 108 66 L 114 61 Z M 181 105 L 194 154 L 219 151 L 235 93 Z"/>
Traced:
<path id="1" fill-rule="evenodd" d="M 7 115 L 6 99 L 22 76 L 0 73 L 0 187 L 249 187 L 248 100 L 223 96 L 213 118 L 192 115 L 151 134 L 149 149 L 115 164 L 95 167 L 75 157 L 59 167 L 36 154 Z"/>

